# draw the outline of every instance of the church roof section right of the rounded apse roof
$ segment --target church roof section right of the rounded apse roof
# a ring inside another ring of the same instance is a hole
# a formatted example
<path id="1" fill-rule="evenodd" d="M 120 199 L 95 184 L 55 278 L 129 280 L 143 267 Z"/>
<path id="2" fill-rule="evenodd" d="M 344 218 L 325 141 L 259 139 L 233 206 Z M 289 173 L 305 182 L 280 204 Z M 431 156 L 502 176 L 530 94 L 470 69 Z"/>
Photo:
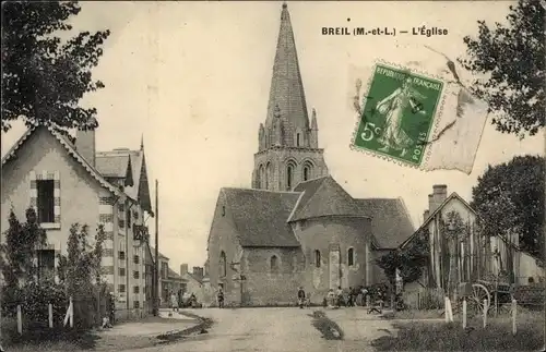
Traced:
<path id="1" fill-rule="evenodd" d="M 371 228 L 377 245 L 395 248 L 410 238 L 415 227 L 402 198 L 355 199 L 360 211 L 371 217 Z"/>

